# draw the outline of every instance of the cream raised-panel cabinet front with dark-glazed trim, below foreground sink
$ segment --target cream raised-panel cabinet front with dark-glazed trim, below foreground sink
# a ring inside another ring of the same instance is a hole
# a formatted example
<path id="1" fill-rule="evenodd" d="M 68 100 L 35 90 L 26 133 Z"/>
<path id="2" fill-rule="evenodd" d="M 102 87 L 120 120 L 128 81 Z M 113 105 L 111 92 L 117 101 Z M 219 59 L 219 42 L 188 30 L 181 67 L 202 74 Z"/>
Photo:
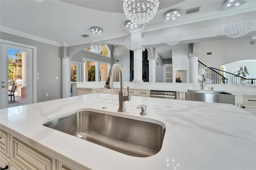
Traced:
<path id="1" fill-rule="evenodd" d="M 38 152 L 16 138 L 12 138 L 12 160 L 26 169 L 52 170 L 52 158 Z M 54 160 L 55 161 L 55 160 Z"/>

